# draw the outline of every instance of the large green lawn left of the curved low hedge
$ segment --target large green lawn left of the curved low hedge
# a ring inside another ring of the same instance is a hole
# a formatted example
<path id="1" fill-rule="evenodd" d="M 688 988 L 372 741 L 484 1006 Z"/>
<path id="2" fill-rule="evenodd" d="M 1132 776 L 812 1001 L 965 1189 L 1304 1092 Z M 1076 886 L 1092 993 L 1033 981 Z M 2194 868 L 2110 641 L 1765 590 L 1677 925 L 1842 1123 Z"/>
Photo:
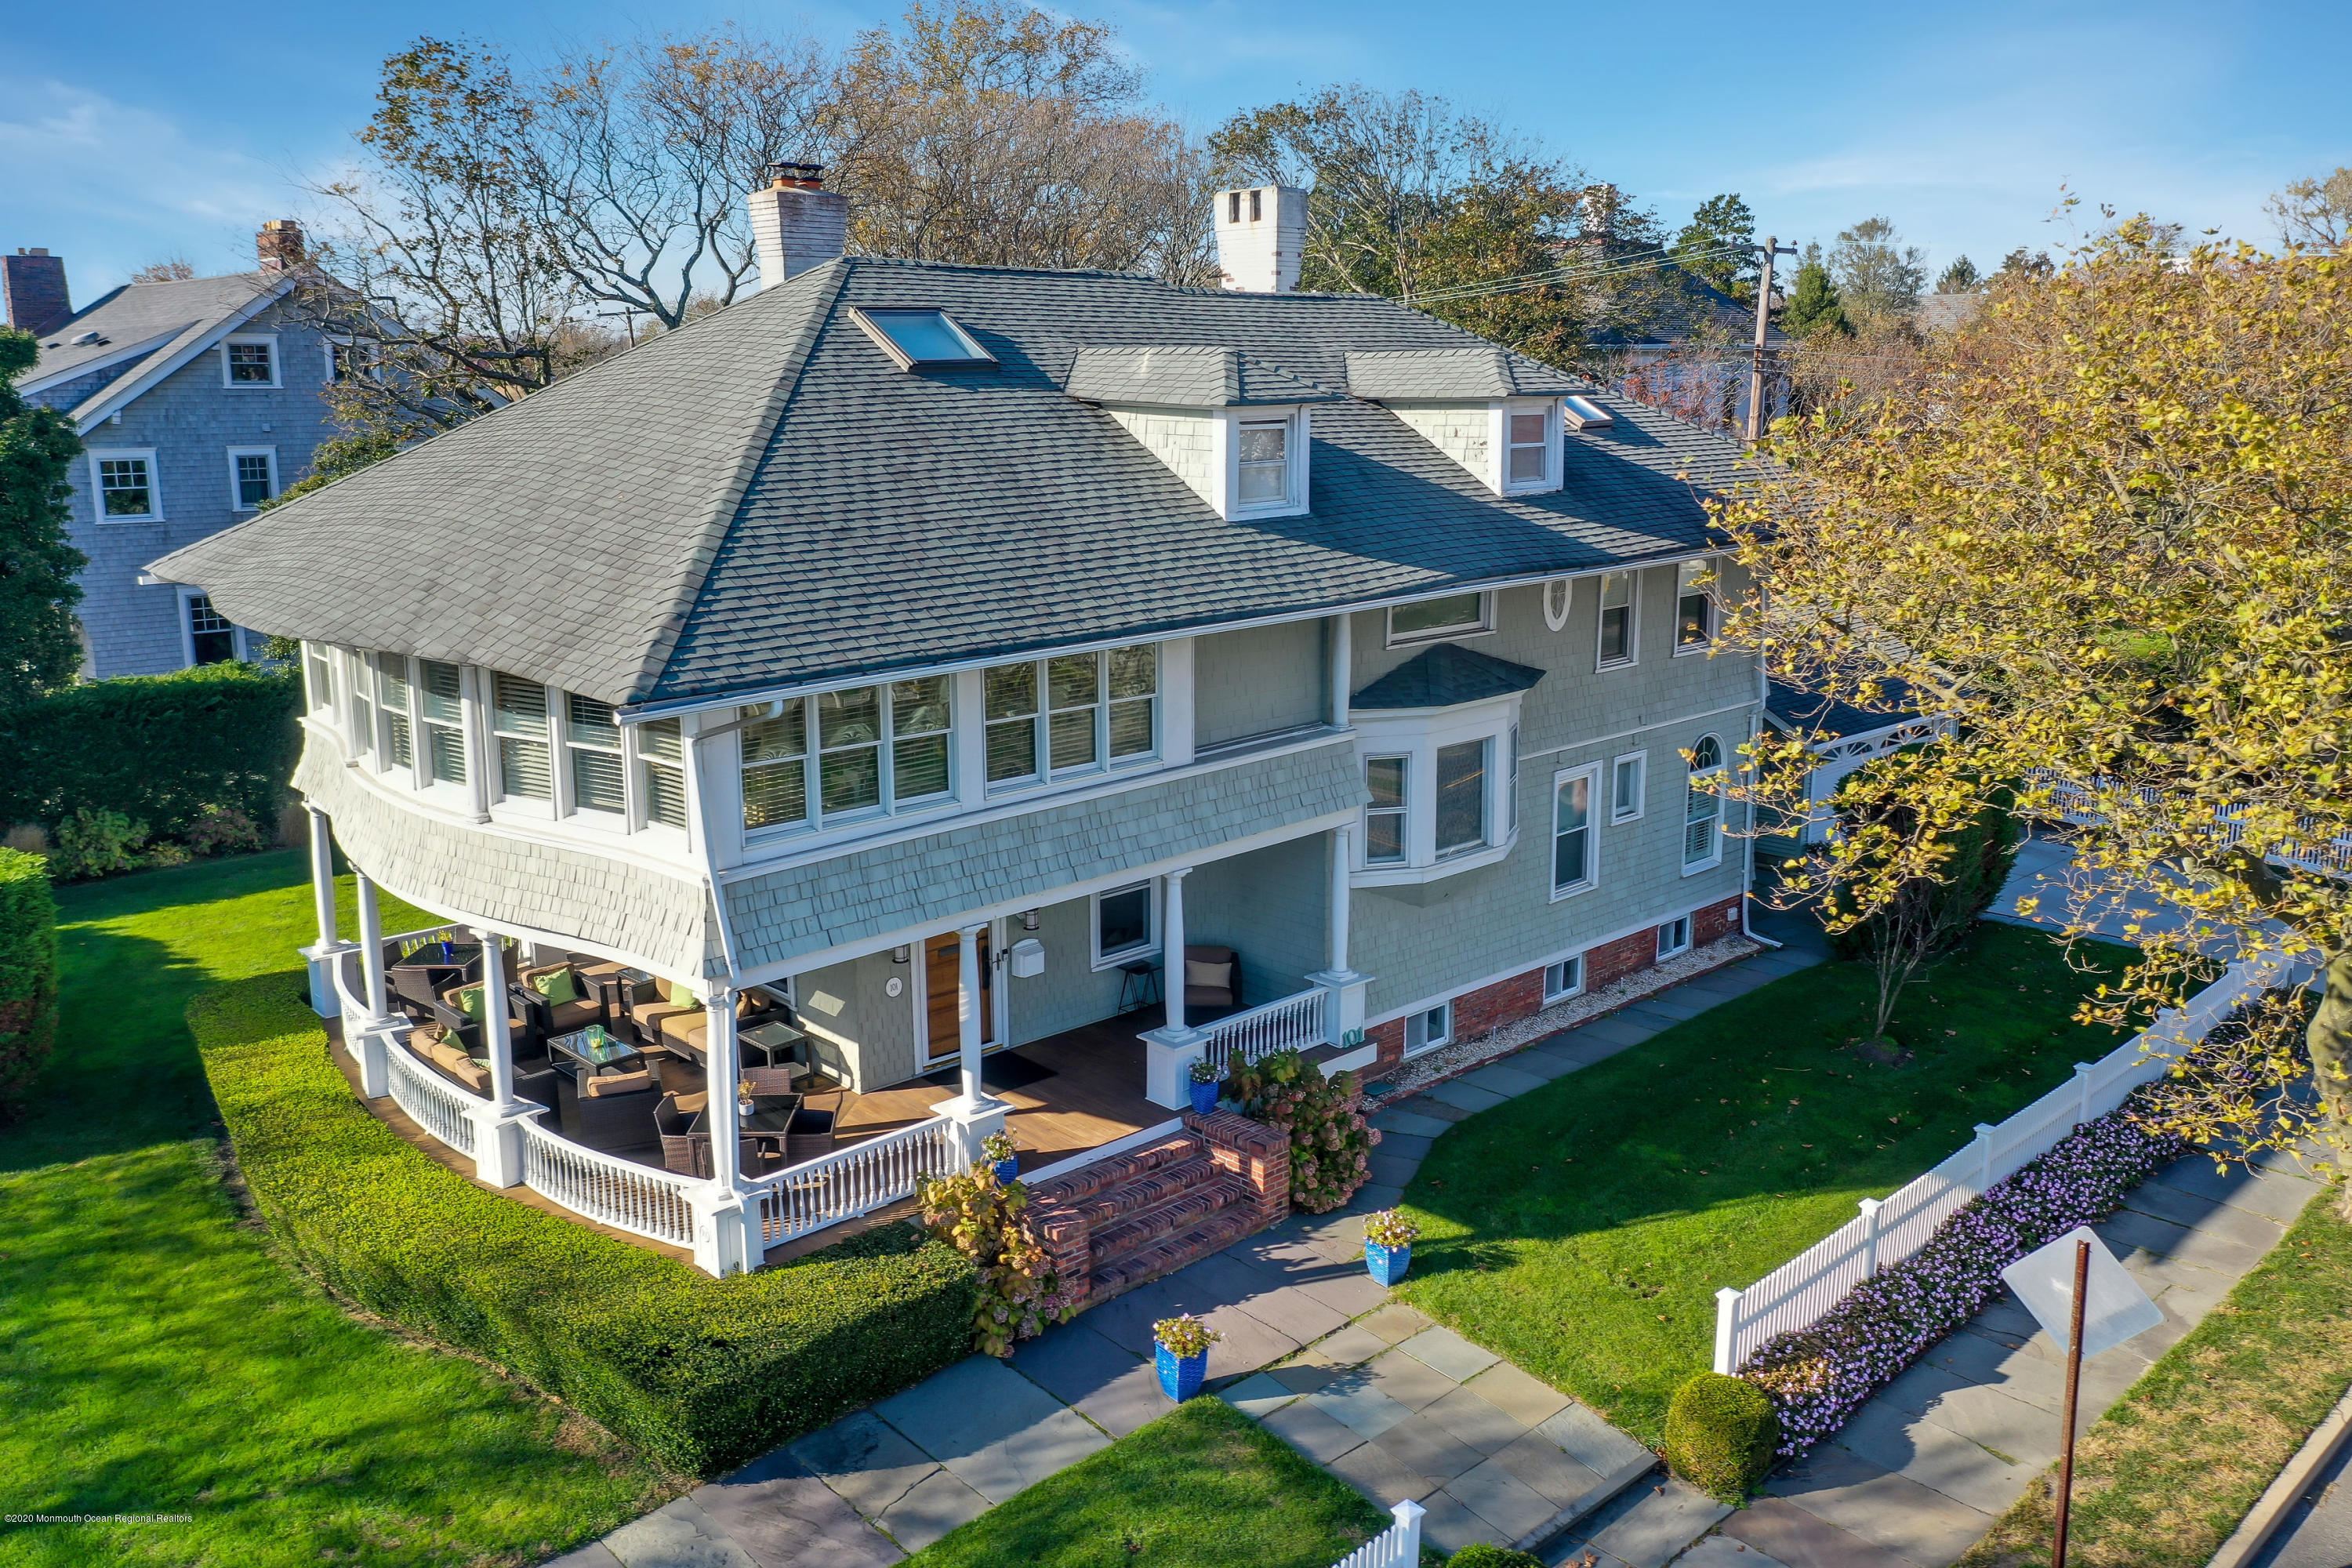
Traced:
<path id="1" fill-rule="evenodd" d="M 680 1486 L 480 1363 L 353 1321 L 233 1208 L 183 1009 L 254 976 L 303 990 L 301 853 L 59 905 L 59 1056 L 0 1128 L 0 1512 L 193 1521 L 0 1526 L 0 1563 L 529 1563 Z"/>

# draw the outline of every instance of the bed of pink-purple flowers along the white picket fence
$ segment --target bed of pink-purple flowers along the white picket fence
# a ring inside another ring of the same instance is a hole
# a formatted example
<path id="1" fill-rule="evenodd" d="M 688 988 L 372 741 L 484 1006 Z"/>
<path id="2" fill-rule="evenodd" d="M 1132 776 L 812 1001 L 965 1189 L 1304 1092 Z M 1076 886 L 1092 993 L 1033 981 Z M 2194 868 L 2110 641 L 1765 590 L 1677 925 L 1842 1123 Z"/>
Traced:
<path id="1" fill-rule="evenodd" d="M 1936 1227 L 1917 1253 L 1879 1269 L 1820 1321 L 1773 1335 L 1738 1375 L 1780 1413 L 1780 1458 L 1830 1436 L 1865 1399 L 2002 1293 L 2002 1269 L 2077 1225 L 2105 1220 L 2124 1194 L 2187 1150 L 2133 1114 L 2145 1091 L 2074 1128 L 2049 1154 L 1999 1180 Z"/>

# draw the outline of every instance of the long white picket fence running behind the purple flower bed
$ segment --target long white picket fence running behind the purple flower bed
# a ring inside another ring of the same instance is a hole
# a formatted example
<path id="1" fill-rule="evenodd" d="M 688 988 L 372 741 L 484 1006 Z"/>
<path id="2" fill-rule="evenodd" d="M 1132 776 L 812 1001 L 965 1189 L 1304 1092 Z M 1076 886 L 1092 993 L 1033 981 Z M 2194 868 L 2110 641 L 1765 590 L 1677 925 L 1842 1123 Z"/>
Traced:
<path id="1" fill-rule="evenodd" d="M 2164 1077 L 2173 1056 L 2206 1037 L 2241 1001 L 2298 985 L 2307 966 L 2277 957 L 2232 964 L 2185 1009 L 2161 1013 L 2096 1063 L 1999 1126 L 1976 1124 L 1976 1140 L 1889 1199 L 1863 1199 L 1860 1215 L 1797 1253 L 1745 1291 L 1715 1293 L 1715 1371 L 1731 1373 L 1766 1340 L 1818 1324 L 1853 1286 L 1926 1246 L 1962 1204 L 2046 1154 L 2077 1124 L 2105 1117 L 2140 1084 Z"/>

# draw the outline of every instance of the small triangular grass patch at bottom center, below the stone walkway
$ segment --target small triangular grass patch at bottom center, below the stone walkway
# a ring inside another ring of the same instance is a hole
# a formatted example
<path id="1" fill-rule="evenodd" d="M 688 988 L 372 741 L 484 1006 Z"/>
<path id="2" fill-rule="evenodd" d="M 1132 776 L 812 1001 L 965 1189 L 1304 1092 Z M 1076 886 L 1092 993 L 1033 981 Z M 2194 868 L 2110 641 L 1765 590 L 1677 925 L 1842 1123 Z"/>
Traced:
<path id="1" fill-rule="evenodd" d="M 931 1542 L 910 1568 L 1329 1568 L 1385 1512 L 1223 1399 L 1190 1399 Z"/>

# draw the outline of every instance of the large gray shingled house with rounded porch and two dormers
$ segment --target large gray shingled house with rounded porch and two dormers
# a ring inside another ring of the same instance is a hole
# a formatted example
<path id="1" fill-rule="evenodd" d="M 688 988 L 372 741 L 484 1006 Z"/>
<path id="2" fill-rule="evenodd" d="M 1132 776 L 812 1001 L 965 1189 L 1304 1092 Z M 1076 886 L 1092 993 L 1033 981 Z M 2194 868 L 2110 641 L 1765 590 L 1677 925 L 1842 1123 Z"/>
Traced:
<path id="1" fill-rule="evenodd" d="M 315 992 L 416 1138 L 724 1272 L 1009 1131 L 1103 1293 L 1284 1204 L 1192 1063 L 1740 929 L 1733 447 L 1294 292 L 1279 190 L 1228 289 L 753 207 L 755 299 L 153 564 L 308 644 Z"/>

